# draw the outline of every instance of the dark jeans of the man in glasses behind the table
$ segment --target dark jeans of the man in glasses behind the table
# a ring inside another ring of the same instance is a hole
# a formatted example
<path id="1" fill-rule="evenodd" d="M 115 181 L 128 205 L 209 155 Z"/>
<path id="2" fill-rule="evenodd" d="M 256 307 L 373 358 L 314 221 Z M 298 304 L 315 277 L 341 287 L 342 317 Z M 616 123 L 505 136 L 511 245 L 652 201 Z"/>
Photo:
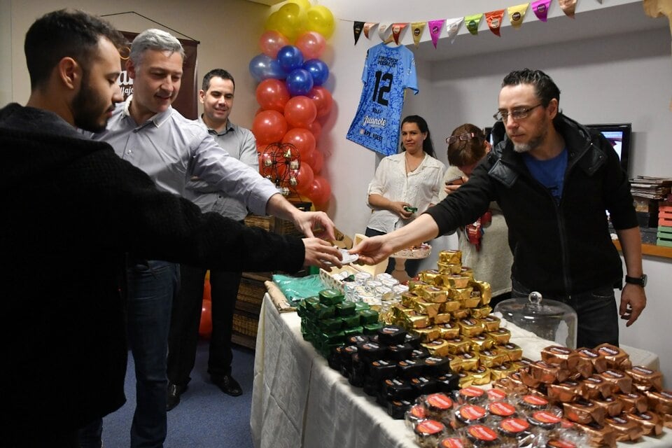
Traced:
<path id="1" fill-rule="evenodd" d="M 512 279 L 512 297 L 527 297 L 532 290 Z M 557 300 L 568 304 L 576 311 L 577 332 L 576 346 L 589 349 L 599 344 L 618 346 L 618 310 L 616 297 L 612 285 L 600 286 L 584 293 L 568 296 L 545 294 L 547 299 Z"/>

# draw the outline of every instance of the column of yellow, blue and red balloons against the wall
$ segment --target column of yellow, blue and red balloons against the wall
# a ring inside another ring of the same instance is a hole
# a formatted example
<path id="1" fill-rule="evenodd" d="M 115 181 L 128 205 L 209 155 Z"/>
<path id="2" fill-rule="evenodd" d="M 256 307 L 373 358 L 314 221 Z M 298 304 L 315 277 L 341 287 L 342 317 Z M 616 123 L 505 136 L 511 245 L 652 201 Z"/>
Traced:
<path id="1" fill-rule="evenodd" d="M 259 110 L 252 132 L 260 153 L 259 169 L 283 194 L 295 190 L 316 207 L 331 197 L 329 182 L 320 175 L 324 155 L 317 148 L 322 124 L 332 109 L 324 87 L 329 68 L 320 59 L 334 17 L 324 6 L 293 0 L 269 15 L 259 39 L 261 53 L 249 69 L 258 81 Z"/>

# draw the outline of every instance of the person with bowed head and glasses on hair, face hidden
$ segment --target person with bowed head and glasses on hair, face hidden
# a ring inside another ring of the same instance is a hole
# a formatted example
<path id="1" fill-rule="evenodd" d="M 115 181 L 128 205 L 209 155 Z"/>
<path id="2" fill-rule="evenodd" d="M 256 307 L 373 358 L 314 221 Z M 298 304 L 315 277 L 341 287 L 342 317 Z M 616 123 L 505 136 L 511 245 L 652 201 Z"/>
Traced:
<path id="1" fill-rule="evenodd" d="M 469 180 L 471 172 L 490 152 L 490 142 L 479 127 L 466 123 L 458 126 L 446 139 L 450 166 L 444 176 L 439 199 L 451 194 Z M 511 265 L 513 254 L 508 243 L 508 228 L 496 202 L 474 223 L 458 231 L 462 264 L 474 269 L 477 280 L 487 281 L 492 288 L 490 306 L 511 297 Z"/>

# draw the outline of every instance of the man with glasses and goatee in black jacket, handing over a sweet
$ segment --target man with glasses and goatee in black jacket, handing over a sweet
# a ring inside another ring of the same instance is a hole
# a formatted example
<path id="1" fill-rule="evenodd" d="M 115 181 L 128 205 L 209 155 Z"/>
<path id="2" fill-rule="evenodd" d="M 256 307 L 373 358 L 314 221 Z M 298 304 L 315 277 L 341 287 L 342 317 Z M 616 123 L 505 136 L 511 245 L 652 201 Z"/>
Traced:
<path id="1" fill-rule="evenodd" d="M 513 297 L 536 290 L 569 304 L 578 316 L 577 346 L 618 344 L 617 315 L 631 325 L 646 304 L 641 239 L 630 184 L 598 134 L 559 111 L 560 91 L 545 73 L 524 69 L 504 78 L 496 127 L 506 135 L 469 181 L 414 223 L 367 239 L 351 252 L 364 262 L 472 223 L 491 201 L 509 226 Z M 627 269 L 612 244 L 605 210 Z"/>

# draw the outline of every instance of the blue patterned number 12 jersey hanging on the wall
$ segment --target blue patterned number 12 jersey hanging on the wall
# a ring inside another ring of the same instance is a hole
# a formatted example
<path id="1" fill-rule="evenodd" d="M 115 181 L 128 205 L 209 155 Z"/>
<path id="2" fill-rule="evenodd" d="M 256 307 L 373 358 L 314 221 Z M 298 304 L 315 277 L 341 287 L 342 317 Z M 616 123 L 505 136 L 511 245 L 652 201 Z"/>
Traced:
<path id="1" fill-rule="evenodd" d="M 406 89 L 418 93 L 413 52 L 379 43 L 369 48 L 364 88 L 346 138 L 383 155 L 396 154 Z"/>

